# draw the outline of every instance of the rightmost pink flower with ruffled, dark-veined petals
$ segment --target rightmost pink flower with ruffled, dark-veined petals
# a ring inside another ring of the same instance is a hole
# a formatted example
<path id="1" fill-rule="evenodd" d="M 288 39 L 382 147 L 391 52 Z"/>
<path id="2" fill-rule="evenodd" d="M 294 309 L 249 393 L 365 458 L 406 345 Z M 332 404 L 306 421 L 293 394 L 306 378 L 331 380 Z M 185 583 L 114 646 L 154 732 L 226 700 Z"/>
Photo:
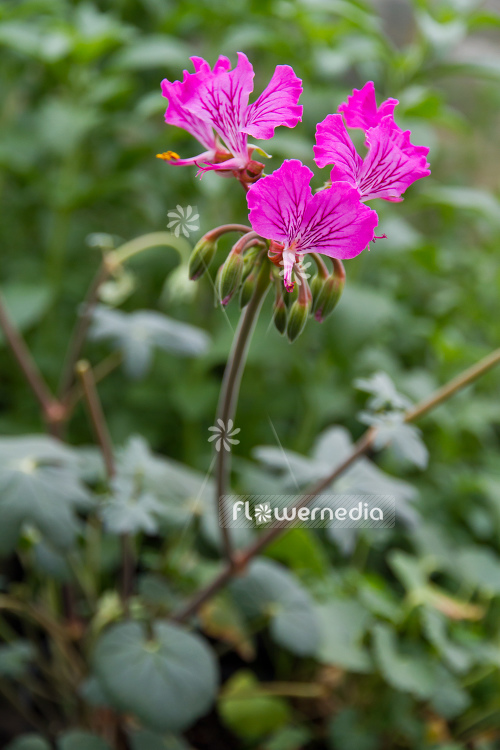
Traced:
<path id="1" fill-rule="evenodd" d="M 334 164 L 332 182 L 346 180 L 356 185 L 361 200 L 383 198 L 401 201 L 402 194 L 415 180 L 430 174 L 426 146 L 414 146 L 410 131 L 394 122 L 396 99 L 388 99 L 379 109 L 373 83 L 356 89 L 347 104 L 341 104 L 346 122 L 363 128 L 368 153 L 363 160 L 347 133 L 342 115 L 328 115 L 316 128 L 315 161 L 318 167 Z"/>

